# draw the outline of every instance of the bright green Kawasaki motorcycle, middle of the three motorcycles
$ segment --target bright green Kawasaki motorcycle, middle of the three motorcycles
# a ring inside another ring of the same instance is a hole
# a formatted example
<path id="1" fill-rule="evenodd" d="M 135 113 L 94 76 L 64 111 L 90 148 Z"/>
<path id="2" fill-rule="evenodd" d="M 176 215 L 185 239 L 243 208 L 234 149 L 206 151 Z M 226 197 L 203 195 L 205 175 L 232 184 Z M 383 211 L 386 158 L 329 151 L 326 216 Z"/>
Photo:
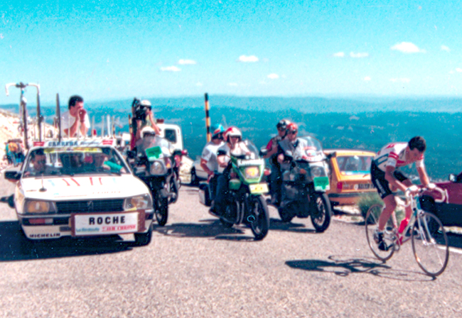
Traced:
<path id="1" fill-rule="evenodd" d="M 262 240 L 269 230 L 269 212 L 263 194 L 268 192 L 268 185 L 262 182 L 264 160 L 259 158 L 258 150 L 248 140 L 241 141 L 247 151 L 245 154 L 230 152 L 229 190 L 222 214 L 217 215 L 224 226 L 247 224 L 252 229 L 256 240 Z M 219 154 L 220 155 L 220 154 Z M 199 199 L 204 205 L 207 202 L 208 185 L 200 188 Z"/>

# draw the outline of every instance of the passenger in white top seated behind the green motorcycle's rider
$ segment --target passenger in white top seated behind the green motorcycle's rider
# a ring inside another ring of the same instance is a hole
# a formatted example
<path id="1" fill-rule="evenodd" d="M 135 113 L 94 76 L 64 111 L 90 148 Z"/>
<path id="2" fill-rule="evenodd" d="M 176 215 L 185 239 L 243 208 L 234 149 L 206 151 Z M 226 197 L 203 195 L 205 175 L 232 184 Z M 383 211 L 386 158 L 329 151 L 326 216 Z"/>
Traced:
<path id="1" fill-rule="evenodd" d="M 211 199 L 213 200 L 215 198 L 215 190 L 217 188 L 217 172 L 219 168 L 217 150 L 225 144 L 223 141 L 223 132 L 225 131 L 225 128 L 223 128 L 221 124 L 213 125 L 211 128 L 212 140 L 209 141 L 202 150 L 200 167 L 202 167 L 208 174 L 210 194 Z"/>

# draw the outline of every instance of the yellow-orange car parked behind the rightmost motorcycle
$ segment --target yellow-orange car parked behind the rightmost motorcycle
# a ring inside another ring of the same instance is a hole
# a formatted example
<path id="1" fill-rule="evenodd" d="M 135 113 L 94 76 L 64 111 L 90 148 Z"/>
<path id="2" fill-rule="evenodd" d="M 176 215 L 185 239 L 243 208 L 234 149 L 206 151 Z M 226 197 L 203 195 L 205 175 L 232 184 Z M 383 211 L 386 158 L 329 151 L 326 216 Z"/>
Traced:
<path id="1" fill-rule="evenodd" d="M 370 163 L 375 153 L 366 150 L 327 149 L 332 154 L 329 161 L 331 190 L 327 194 L 331 204 L 357 204 L 367 192 L 375 192 L 370 180 Z"/>

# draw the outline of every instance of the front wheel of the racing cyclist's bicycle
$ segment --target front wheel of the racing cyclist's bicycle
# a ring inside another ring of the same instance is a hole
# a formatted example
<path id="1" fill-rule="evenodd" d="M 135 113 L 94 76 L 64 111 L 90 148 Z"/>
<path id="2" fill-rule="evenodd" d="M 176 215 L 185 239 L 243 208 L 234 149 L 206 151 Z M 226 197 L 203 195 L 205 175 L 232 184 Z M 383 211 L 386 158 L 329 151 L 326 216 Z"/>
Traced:
<path id="1" fill-rule="evenodd" d="M 420 268 L 436 277 L 449 260 L 448 236 L 441 221 L 429 212 L 417 216 L 412 226 L 412 251 Z"/>

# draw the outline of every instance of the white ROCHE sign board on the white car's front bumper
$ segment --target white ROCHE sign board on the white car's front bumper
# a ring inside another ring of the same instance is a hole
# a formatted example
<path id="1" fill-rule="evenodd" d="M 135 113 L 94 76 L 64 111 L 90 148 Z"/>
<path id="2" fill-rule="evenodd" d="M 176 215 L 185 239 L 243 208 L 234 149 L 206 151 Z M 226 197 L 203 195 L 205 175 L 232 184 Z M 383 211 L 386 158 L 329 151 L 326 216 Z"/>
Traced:
<path id="1" fill-rule="evenodd" d="M 112 235 L 138 231 L 138 212 L 71 214 L 72 236 Z"/>

